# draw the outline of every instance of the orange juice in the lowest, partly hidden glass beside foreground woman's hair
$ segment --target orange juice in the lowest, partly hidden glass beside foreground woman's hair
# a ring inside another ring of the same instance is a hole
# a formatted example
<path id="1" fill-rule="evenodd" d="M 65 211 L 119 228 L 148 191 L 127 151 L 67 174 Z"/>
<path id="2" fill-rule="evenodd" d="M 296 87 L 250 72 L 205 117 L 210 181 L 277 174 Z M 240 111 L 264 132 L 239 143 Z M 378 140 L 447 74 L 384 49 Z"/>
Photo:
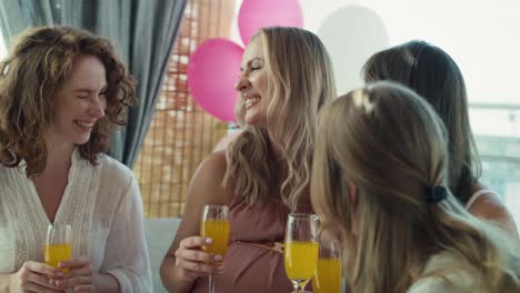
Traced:
<path id="1" fill-rule="evenodd" d="M 313 293 L 340 293 L 341 263 L 339 257 L 318 259 L 318 269 L 312 277 Z"/>

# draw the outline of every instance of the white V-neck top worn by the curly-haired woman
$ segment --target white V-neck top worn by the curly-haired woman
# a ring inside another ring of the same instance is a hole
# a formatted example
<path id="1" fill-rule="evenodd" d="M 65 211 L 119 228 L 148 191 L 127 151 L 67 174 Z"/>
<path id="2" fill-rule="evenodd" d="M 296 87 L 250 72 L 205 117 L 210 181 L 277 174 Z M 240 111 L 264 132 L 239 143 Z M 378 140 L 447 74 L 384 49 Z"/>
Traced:
<path id="1" fill-rule="evenodd" d="M 72 255 L 89 256 L 93 271 L 112 274 L 121 292 L 151 292 L 142 200 L 132 172 L 101 155 L 98 165 L 72 154 L 68 185 L 54 223 L 72 226 Z M 43 262 L 50 221 L 24 166 L 0 165 L 0 273 Z"/>

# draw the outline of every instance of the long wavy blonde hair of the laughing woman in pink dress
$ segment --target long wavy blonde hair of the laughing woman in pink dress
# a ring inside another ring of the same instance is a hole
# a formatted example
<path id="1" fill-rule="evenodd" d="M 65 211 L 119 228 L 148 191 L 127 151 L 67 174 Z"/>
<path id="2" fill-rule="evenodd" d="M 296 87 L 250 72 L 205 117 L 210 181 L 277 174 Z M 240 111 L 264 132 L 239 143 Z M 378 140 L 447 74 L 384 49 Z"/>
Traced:
<path id="1" fill-rule="evenodd" d="M 243 132 L 227 149 L 223 184 L 232 185 L 234 194 L 249 204 L 281 194 L 296 210 L 300 195 L 309 191 L 318 110 L 336 98 L 332 64 L 312 32 L 273 27 L 261 29 L 254 38 L 262 39 L 271 97 L 267 128 L 243 123 L 240 98 L 236 112 Z M 271 143 L 281 149 L 281 161 L 274 158 Z"/>

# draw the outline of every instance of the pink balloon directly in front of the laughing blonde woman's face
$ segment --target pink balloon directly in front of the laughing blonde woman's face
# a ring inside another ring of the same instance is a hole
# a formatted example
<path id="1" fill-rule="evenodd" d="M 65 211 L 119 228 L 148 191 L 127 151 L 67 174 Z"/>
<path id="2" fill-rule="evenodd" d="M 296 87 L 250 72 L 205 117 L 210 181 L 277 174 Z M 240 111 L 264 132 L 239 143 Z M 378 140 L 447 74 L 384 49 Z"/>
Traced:
<path id="1" fill-rule="evenodd" d="M 234 122 L 234 89 L 240 77 L 243 49 L 226 39 L 210 39 L 199 46 L 188 64 L 188 87 L 202 109 L 213 117 Z"/>

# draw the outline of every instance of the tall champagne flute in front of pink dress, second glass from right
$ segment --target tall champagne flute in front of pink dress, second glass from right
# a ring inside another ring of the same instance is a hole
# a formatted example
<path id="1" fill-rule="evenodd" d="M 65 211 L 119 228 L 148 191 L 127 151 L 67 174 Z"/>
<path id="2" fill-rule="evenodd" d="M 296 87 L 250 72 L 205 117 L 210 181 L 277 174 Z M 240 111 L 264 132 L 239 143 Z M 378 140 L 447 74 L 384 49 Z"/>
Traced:
<path id="1" fill-rule="evenodd" d="M 307 292 L 318 265 L 319 218 L 316 214 L 291 213 L 287 220 L 284 265 L 294 292 Z"/>

